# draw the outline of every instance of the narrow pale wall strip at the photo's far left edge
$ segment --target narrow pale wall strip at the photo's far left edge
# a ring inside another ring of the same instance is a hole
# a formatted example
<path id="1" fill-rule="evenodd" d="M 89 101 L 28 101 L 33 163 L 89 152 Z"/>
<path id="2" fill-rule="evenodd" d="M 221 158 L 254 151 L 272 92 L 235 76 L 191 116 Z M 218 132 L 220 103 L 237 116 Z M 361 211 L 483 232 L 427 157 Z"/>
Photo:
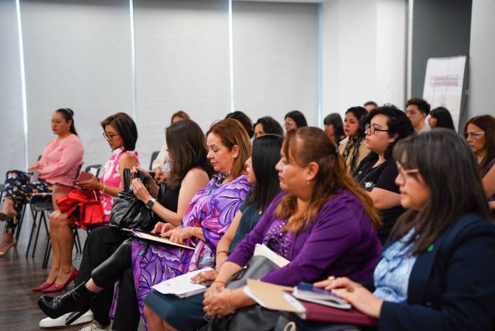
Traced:
<path id="1" fill-rule="evenodd" d="M 0 180 L 25 169 L 21 63 L 14 1 L 0 1 Z"/>

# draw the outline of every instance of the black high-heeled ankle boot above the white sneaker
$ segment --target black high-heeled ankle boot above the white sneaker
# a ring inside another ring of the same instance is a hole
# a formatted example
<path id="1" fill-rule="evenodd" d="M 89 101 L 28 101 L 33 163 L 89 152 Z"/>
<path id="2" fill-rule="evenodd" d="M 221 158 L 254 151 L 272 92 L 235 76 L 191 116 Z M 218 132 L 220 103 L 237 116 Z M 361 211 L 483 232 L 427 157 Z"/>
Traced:
<path id="1" fill-rule="evenodd" d="M 51 319 L 61 317 L 67 312 L 87 312 L 96 293 L 91 292 L 80 284 L 74 290 L 58 297 L 43 295 L 38 299 L 38 306 Z"/>

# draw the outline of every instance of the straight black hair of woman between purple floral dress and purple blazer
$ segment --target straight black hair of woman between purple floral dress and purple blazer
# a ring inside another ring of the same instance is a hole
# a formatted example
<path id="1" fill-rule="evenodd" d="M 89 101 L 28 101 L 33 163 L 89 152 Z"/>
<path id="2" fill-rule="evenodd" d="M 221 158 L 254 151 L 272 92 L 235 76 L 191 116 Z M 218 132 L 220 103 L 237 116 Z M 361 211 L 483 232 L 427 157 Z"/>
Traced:
<path id="1" fill-rule="evenodd" d="M 253 141 L 251 163 L 256 184 L 247 203 L 253 205 L 257 211 L 265 211 L 281 191 L 275 166 L 281 158 L 282 140 L 282 136 L 266 134 Z"/>

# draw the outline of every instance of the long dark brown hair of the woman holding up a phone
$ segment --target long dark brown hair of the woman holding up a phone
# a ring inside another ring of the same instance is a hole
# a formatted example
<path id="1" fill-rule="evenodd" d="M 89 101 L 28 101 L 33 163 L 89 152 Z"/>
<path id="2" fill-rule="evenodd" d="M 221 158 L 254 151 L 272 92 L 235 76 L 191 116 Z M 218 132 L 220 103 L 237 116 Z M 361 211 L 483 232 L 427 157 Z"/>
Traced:
<path id="1" fill-rule="evenodd" d="M 190 169 L 198 167 L 208 173 L 211 178 L 213 169 L 208 162 L 208 148 L 206 147 L 203 131 L 192 120 L 173 122 L 166 129 L 166 142 L 170 158 L 170 173 L 166 183 L 170 189 L 176 189 Z"/>

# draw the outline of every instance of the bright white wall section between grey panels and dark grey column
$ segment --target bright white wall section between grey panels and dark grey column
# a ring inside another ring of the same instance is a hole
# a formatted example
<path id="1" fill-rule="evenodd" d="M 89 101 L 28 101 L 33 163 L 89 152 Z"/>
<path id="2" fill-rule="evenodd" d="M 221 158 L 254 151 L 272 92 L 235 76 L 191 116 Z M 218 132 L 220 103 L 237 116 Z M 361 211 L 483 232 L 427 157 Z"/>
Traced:
<path id="1" fill-rule="evenodd" d="M 322 10 L 323 116 L 368 100 L 403 107 L 406 1 L 334 0 Z"/>

